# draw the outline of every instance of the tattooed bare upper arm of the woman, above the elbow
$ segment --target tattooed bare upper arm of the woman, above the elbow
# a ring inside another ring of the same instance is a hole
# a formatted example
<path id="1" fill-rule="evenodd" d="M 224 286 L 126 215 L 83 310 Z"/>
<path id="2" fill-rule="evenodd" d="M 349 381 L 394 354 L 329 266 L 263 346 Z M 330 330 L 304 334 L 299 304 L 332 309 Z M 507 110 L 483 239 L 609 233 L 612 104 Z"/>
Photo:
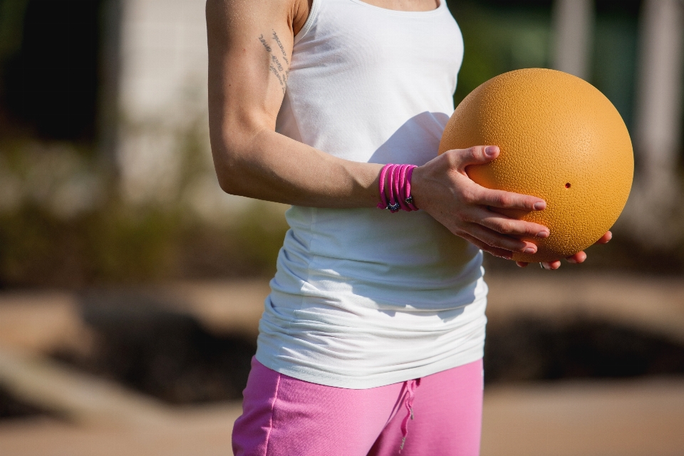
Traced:
<path id="1" fill-rule="evenodd" d="M 212 143 L 274 130 L 306 0 L 207 0 Z"/>

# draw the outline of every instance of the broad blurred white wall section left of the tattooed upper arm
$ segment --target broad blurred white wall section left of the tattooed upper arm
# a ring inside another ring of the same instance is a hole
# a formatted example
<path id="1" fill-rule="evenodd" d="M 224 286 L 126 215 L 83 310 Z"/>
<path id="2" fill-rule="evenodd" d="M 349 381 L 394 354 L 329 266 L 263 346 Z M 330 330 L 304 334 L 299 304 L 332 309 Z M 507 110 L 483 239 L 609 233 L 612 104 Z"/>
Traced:
<path id="1" fill-rule="evenodd" d="M 220 190 L 211 162 L 204 0 L 121 1 L 115 154 L 126 199 L 176 198 L 194 147 L 203 172 L 193 171 L 182 198 L 208 218 L 241 209 L 247 202 Z"/>

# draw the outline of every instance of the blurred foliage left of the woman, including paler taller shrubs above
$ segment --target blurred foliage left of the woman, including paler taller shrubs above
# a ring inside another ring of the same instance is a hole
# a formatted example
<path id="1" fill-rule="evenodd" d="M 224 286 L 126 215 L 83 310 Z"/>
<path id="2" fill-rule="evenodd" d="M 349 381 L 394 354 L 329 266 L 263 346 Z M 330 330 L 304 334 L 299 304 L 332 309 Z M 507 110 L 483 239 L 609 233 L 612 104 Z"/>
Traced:
<path id="1" fill-rule="evenodd" d="M 273 274 L 281 207 L 254 202 L 210 222 L 187 204 L 187 190 L 212 172 L 201 132 L 195 124 L 178 135 L 175 194 L 145 204 L 126 202 L 93 152 L 0 140 L 0 287 Z"/>

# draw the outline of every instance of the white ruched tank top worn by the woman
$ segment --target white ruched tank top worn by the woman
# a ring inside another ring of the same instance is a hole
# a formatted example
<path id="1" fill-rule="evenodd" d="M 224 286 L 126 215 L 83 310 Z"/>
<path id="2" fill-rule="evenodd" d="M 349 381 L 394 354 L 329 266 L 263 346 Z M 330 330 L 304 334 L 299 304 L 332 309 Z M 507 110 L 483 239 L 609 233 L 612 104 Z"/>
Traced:
<path id="1" fill-rule="evenodd" d="M 463 56 L 445 1 L 393 11 L 314 0 L 276 130 L 357 162 L 423 165 L 454 110 Z M 373 388 L 477 361 L 482 252 L 425 212 L 292 207 L 257 359 L 322 385 Z"/>

